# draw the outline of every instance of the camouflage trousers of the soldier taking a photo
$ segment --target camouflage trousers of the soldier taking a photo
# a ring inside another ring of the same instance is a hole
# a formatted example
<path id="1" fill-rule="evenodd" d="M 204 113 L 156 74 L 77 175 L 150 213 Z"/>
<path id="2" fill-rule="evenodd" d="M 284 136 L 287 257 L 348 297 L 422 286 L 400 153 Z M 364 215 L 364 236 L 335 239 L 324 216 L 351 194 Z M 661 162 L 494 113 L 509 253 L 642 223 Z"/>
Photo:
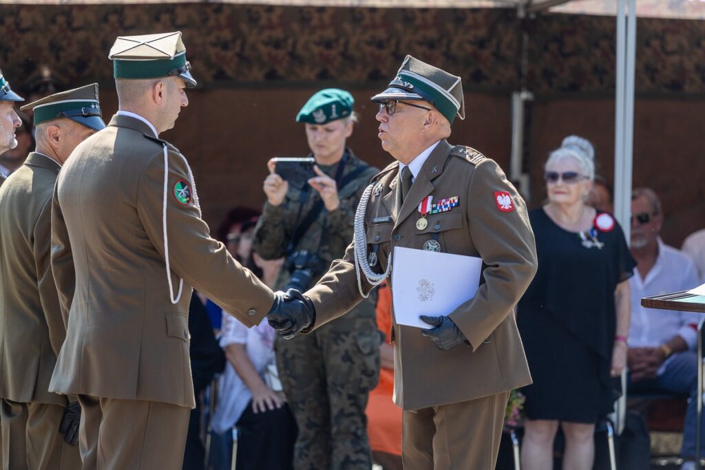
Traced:
<path id="1" fill-rule="evenodd" d="M 379 381 L 380 342 L 374 316 L 355 311 L 308 335 L 277 338 L 279 378 L 298 424 L 295 470 L 372 467 L 364 410 Z"/>

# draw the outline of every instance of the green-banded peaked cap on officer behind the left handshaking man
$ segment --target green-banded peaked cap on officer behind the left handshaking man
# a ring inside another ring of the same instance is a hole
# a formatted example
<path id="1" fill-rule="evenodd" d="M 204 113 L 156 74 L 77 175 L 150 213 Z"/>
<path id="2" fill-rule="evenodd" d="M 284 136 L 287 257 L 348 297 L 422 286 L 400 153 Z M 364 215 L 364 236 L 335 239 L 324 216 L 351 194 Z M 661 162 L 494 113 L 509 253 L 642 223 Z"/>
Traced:
<path id="1" fill-rule="evenodd" d="M 50 94 L 48 97 L 25 104 L 20 109 L 34 111 L 35 125 L 46 123 L 49 120 L 67 118 L 94 130 L 105 128 L 105 123 L 101 118 L 97 83 Z"/>

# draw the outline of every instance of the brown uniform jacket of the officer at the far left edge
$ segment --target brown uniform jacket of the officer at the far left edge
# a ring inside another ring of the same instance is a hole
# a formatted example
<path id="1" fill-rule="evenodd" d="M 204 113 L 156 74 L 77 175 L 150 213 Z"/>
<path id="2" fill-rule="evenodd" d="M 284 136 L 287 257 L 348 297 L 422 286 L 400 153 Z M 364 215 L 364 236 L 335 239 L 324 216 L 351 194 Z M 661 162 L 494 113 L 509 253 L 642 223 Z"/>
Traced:
<path id="1" fill-rule="evenodd" d="M 66 404 L 49 392 L 66 334 L 51 276 L 51 194 L 59 163 L 30 153 L 0 188 L 0 397 Z"/>

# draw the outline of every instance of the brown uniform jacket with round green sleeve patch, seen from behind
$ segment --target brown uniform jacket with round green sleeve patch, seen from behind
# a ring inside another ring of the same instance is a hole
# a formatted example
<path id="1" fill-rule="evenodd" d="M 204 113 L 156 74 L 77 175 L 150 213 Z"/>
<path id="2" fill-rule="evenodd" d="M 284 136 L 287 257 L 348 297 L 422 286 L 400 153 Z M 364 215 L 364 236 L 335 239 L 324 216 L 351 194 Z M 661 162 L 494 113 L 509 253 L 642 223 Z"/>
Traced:
<path id="1" fill-rule="evenodd" d="M 76 147 L 59 173 L 51 266 L 68 328 L 50 390 L 194 407 L 191 286 L 247 326 L 264 318 L 274 294 L 209 236 L 185 159 L 168 145 L 175 295 L 184 280 L 183 295 L 172 304 L 162 232 L 164 154 L 162 141 L 151 136 L 146 123 L 114 116 Z M 192 196 L 180 201 L 183 185 Z"/>

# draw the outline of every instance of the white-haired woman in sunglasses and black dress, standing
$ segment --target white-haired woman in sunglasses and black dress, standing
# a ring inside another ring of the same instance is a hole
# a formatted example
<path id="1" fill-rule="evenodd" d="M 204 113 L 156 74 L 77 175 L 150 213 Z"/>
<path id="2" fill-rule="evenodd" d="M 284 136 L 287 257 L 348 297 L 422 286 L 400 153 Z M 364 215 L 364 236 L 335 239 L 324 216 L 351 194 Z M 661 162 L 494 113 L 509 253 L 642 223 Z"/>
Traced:
<path id="1" fill-rule="evenodd" d="M 525 470 L 552 468 L 559 424 L 563 469 L 592 468 L 595 423 L 625 366 L 635 262 L 614 218 L 585 204 L 593 157 L 587 140 L 566 137 L 546 162 L 548 203 L 529 212 L 539 270 L 517 310 L 534 379 L 523 390 Z"/>

